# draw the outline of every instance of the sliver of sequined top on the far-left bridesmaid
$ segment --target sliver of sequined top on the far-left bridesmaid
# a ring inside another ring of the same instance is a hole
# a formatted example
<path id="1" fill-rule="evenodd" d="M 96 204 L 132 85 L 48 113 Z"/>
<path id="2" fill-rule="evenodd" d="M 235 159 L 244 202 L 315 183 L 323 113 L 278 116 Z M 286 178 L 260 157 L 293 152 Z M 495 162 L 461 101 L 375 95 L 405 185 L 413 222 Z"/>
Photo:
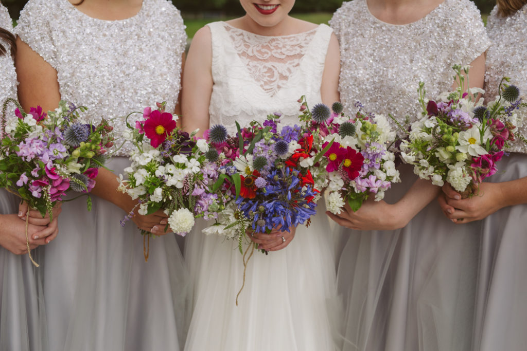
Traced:
<path id="1" fill-rule="evenodd" d="M 12 31 L 13 22 L 7 12 L 7 8 L 0 4 L 0 27 L 7 31 Z M 9 52 L 9 44 L 0 39 L 2 46 L 6 48 L 7 53 L 0 56 L 0 106 L 4 103 L 8 97 L 16 98 L 16 72 L 15 65 L 13 64 L 13 58 Z M 11 105 L 13 106 L 13 105 Z M 1 112 L 1 111 L 0 111 Z"/>

